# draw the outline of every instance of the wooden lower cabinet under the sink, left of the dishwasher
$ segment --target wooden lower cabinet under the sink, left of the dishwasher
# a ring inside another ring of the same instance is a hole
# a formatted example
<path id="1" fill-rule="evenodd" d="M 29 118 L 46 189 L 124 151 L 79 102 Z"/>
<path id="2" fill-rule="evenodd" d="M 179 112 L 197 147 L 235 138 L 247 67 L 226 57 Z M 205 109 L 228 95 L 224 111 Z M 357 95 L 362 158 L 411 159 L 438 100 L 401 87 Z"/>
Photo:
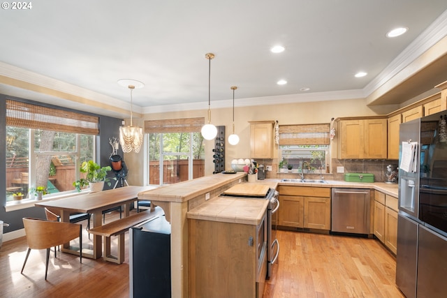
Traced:
<path id="1" fill-rule="evenodd" d="M 278 225 L 330 230 L 330 188 L 279 186 Z"/>

